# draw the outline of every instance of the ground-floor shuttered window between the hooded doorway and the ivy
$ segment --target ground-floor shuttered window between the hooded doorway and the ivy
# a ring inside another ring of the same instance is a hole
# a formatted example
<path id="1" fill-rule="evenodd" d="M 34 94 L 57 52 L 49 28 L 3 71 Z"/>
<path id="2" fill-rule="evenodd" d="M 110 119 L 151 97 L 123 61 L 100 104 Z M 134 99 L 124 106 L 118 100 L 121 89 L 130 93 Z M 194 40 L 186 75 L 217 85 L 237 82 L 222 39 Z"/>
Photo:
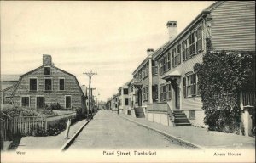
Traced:
<path id="1" fill-rule="evenodd" d="M 196 75 L 191 74 L 183 78 L 184 97 L 192 97 L 196 95 Z"/>

